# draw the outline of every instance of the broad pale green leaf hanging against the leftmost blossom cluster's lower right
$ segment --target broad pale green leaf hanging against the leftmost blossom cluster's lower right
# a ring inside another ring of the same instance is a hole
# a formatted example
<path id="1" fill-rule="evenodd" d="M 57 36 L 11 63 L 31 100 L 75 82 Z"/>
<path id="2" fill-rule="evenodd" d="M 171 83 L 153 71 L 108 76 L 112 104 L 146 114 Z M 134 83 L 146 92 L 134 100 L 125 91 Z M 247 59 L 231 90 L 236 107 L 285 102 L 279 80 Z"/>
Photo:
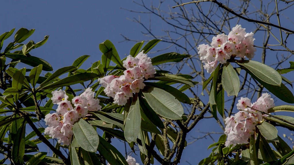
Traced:
<path id="1" fill-rule="evenodd" d="M 96 152 L 98 146 L 98 134 L 96 130 L 85 120 L 79 119 L 74 124 L 73 132 L 78 144 L 86 151 Z"/>

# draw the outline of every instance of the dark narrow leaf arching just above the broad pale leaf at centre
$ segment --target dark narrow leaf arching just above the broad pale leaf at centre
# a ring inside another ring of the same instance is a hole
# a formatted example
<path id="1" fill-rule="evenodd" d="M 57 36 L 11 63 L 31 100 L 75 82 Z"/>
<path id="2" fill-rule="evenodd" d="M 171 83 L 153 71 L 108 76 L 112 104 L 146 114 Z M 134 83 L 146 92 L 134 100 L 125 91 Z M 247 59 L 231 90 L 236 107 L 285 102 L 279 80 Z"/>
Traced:
<path id="1" fill-rule="evenodd" d="M 160 89 L 165 90 L 166 92 L 172 94 L 174 97 L 176 97 L 177 100 L 179 100 L 180 102 L 186 103 L 186 104 L 192 104 L 190 101 L 190 98 L 183 92 L 179 91 L 178 89 L 170 86 L 170 85 L 166 85 L 166 84 L 161 84 L 161 83 L 151 83 L 151 82 L 144 82 L 145 85 L 147 86 L 153 86 L 153 87 L 158 87 Z"/>

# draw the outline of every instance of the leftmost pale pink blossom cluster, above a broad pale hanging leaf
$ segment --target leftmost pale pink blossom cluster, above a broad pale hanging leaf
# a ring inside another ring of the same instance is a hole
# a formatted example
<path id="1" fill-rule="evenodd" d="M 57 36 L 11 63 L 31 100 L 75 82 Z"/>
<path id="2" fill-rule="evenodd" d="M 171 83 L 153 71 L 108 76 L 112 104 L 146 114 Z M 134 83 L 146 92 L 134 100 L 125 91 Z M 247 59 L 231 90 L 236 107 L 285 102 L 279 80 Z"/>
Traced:
<path id="1" fill-rule="evenodd" d="M 45 134 L 49 137 L 59 139 L 59 143 L 69 145 L 73 135 L 73 124 L 81 117 L 86 117 L 88 111 L 101 110 L 99 100 L 94 98 L 94 92 L 87 88 L 80 96 L 72 99 L 72 104 L 64 90 L 52 91 L 53 104 L 58 107 L 55 113 L 47 114 L 45 122 L 48 127 L 45 128 Z M 74 105 L 74 107 L 72 106 Z M 59 115 L 60 114 L 60 115 Z"/>

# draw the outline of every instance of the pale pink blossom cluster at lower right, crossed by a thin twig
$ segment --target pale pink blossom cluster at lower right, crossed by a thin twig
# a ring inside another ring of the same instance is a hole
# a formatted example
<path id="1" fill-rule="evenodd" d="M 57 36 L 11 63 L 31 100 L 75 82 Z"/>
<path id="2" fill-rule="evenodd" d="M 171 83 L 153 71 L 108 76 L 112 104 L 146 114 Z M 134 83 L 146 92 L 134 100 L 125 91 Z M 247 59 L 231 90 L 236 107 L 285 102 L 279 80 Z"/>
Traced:
<path id="1" fill-rule="evenodd" d="M 225 134 L 227 135 L 225 146 L 247 144 L 255 131 L 255 125 L 262 121 L 263 116 L 267 116 L 261 112 L 268 113 L 268 109 L 274 106 L 274 100 L 268 93 L 263 93 L 253 104 L 247 97 L 241 97 L 237 104 L 237 108 L 241 111 L 225 119 Z"/>

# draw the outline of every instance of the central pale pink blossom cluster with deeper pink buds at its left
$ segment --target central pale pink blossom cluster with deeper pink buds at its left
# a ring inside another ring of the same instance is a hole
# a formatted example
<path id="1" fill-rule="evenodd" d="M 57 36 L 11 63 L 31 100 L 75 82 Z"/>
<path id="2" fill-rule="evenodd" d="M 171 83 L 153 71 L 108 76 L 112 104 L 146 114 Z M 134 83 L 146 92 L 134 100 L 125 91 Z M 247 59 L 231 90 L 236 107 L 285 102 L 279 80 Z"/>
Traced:
<path id="1" fill-rule="evenodd" d="M 143 50 L 144 51 L 144 50 Z M 151 63 L 151 58 L 141 51 L 136 57 L 128 55 L 123 61 L 123 66 L 127 69 L 124 75 L 108 75 L 98 78 L 98 81 L 105 87 L 104 92 L 107 96 L 113 97 L 114 104 L 125 105 L 128 98 L 143 89 L 144 78 L 154 77 L 155 67 Z"/>

